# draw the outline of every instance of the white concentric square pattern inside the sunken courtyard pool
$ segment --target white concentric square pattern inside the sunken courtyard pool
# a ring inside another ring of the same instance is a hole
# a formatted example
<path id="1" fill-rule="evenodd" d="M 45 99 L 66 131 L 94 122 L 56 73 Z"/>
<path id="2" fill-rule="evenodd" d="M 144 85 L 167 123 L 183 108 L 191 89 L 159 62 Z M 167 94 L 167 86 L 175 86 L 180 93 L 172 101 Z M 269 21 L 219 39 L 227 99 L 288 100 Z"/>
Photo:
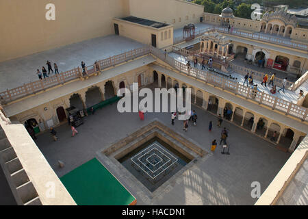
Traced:
<path id="1" fill-rule="evenodd" d="M 156 143 L 146 147 L 143 151 L 131 157 L 131 161 L 149 177 L 155 179 L 159 174 L 171 168 L 178 161 L 176 157 L 162 149 Z"/>

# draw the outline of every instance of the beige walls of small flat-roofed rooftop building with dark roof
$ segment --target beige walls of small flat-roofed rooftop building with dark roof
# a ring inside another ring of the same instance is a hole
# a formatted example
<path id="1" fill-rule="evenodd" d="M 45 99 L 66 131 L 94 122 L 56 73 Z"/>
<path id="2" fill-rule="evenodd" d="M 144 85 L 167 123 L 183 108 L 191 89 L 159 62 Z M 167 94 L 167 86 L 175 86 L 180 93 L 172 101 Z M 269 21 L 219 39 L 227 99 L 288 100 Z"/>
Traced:
<path id="1" fill-rule="evenodd" d="M 118 24 L 120 36 L 131 38 L 144 44 L 152 44 L 152 34 L 156 35 L 157 48 L 161 49 L 173 44 L 173 27 L 169 25 L 162 28 L 147 27 L 128 21 L 114 18 L 114 23 Z"/>

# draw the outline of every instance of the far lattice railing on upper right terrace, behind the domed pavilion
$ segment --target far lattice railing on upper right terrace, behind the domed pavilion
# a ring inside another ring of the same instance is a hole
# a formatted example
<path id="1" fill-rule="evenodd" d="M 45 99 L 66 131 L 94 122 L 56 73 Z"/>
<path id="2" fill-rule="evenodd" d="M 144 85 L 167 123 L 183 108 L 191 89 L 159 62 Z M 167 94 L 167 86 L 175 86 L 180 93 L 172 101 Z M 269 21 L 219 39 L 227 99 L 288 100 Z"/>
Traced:
<path id="1" fill-rule="evenodd" d="M 206 29 L 201 29 L 200 31 L 197 32 L 197 34 L 195 35 L 195 37 L 201 36 L 203 34 L 205 34 L 205 32 L 213 32 L 213 31 L 218 31 L 220 33 L 225 33 L 225 34 L 232 34 L 235 36 L 242 36 L 245 38 L 250 38 L 253 40 L 260 40 L 260 41 L 264 41 L 264 42 L 270 42 L 270 43 L 274 43 L 274 44 L 280 44 L 283 45 L 285 47 L 293 47 L 295 49 L 300 49 L 300 50 L 304 50 L 304 51 L 308 51 L 308 45 L 307 44 L 300 44 L 297 42 L 292 42 L 291 40 L 286 40 L 286 39 L 281 39 L 281 38 L 277 38 L 274 36 L 266 36 L 266 34 L 261 34 L 261 33 L 246 33 L 244 31 L 240 31 L 240 30 L 233 30 L 228 31 L 227 27 L 209 27 Z M 177 44 L 179 42 L 183 42 L 185 39 L 183 37 L 177 37 L 175 38 L 175 40 L 173 40 L 173 44 Z"/>

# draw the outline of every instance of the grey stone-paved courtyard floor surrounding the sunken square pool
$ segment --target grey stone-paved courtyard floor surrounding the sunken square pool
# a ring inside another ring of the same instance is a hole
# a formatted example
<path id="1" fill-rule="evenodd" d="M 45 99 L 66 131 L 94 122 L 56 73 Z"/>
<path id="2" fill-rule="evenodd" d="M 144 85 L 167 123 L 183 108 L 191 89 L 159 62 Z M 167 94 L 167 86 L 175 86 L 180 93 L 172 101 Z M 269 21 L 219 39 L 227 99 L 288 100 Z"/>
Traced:
<path id="1" fill-rule="evenodd" d="M 222 127 L 229 129 L 227 142 L 231 155 L 222 155 L 221 128 L 216 126 L 216 116 L 194 105 L 192 109 L 198 114 L 197 126 L 190 123 L 185 132 L 181 120 L 171 125 L 170 113 L 146 113 L 142 121 L 138 113 L 120 114 L 114 103 L 85 118 L 84 125 L 77 127 L 77 136 L 70 137 L 70 127 L 66 123 L 55 128 L 57 142 L 53 142 L 47 132 L 38 136 L 36 144 L 57 176 L 62 177 L 96 157 L 98 151 L 157 119 L 183 137 L 194 140 L 208 154 L 154 198 L 145 197 L 138 187 L 129 187 L 121 181 L 136 196 L 138 205 L 253 205 L 257 199 L 251 198 L 251 183 L 259 181 L 261 192 L 264 192 L 290 153 L 224 120 Z M 214 123 L 211 132 L 208 131 L 210 120 Z M 210 144 L 214 139 L 218 140 L 218 147 L 212 153 Z M 64 168 L 57 166 L 58 160 L 64 162 Z"/>

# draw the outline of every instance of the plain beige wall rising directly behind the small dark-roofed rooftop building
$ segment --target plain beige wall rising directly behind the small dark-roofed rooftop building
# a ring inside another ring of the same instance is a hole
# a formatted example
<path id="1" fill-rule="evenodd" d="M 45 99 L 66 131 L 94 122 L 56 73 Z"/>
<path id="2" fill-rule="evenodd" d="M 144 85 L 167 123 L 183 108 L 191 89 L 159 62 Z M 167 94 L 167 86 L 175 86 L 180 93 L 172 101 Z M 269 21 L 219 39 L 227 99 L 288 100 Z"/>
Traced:
<path id="1" fill-rule="evenodd" d="M 129 9 L 131 16 L 170 23 L 175 29 L 198 23 L 203 16 L 202 5 L 180 0 L 129 0 Z"/>

